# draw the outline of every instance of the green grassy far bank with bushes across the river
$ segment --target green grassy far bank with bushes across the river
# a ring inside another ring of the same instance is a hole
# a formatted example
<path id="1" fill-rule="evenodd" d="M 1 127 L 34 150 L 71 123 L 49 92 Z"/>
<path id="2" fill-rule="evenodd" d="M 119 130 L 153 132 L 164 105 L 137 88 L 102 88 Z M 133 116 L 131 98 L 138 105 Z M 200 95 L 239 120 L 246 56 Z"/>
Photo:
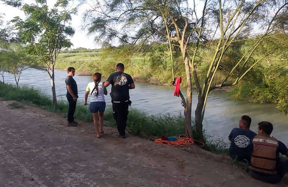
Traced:
<path id="1" fill-rule="evenodd" d="M 115 64 L 121 61 L 125 63 L 125 72 L 129 73 L 134 80 L 159 85 L 170 85 L 172 81 L 172 65 L 170 58 L 168 58 L 169 54 L 167 52 L 157 52 L 157 50 L 156 48 L 153 52 L 150 51 L 142 56 L 140 54 L 129 56 L 122 48 L 62 51 L 58 56 L 56 67 L 66 69 L 69 66 L 73 66 L 76 68 L 78 75 L 91 75 L 94 72 L 101 72 L 103 76 L 108 76 L 114 72 Z M 203 54 L 206 54 L 207 60 L 203 60 L 197 66 L 199 69 L 199 80 L 205 79 L 209 66 L 208 59 L 210 59 L 209 51 L 202 50 Z M 258 103 L 275 103 L 279 111 L 288 116 L 288 63 L 287 58 L 284 58 L 284 54 L 287 55 L 288 52 L 283 51 L 283 56 L 276 55 L 273 58 L 262 60 L 236 86 L 224 87 L 221 90 L 231 91 L 229 95 L 234 99 L 249 100 Z M 234 59 L 233 56 L 230 56 L 228 59 L 230 58 Z M 260 52 L 253 55 L 254 60 L 260 58 Z M 175 58 L 174 60 L 175 76 L 181 76 L 181 86 L 185 86 L 186 75 L 181 58 Z M 267 61 L 269 61 L 268 64 Z M 220 80 L 223 80 L 224 77 L 226 77 L 226 70 L 223 67 L 223 70 L 219 70 L 215 76 L 213 84 L 221 82 Z"/>

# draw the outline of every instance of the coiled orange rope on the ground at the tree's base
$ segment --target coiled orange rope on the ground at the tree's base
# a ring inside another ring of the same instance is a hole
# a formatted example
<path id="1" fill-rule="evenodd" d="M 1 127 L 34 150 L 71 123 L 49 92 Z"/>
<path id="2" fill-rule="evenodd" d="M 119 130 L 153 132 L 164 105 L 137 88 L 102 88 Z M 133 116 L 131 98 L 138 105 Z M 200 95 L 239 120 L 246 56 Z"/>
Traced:
<path id="1" fill-rule="evenodd" d="M 195 142 L 200 143 L 200 145 L 196 145 Z M 198 147 L 204 147 L 203 142 L 194 140 L 193 138 L 188 138 L 188 136 L 186 136 L 185 134 L 178 136 L 177 140 L 175 141 L 168 141 L 168 140 L 162 140 L 161 138 L 157 138 L 154 140 L 154 143 L 159 143 L 163 145 L 172 145 L 172 146 L 186 146 L 186 145 L 195 144 Z"/>

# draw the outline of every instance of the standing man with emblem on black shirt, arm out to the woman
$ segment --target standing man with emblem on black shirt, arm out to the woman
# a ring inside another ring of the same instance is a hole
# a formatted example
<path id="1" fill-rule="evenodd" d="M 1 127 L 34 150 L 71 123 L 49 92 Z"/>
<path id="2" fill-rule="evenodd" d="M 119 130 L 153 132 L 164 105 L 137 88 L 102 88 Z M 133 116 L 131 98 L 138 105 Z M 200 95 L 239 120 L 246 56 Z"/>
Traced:
<path id="1" fill-rule="evenodd" d="M 128 116 L 128 107 L 131 104 L 129 100 L 129 89 L 134 89 L 135 84 L 132 77 L 129 74 L 124 73 L 124 64 L 118 63 L 116 66 L 116 72 L 112 73 L 104 86 L 112 85 L 111 99 L 114 119 L 117 123 L 117 129 L 119 135 L 122 138 L 126 138 L 125 129 Z"/>

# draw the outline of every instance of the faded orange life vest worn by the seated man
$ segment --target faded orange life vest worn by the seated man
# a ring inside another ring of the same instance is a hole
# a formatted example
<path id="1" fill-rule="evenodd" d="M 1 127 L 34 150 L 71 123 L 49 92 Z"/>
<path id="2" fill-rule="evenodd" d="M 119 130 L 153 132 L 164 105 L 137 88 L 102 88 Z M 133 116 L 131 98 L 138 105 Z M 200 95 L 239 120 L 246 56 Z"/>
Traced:
<path id="1" fill-rule="evenodd" d="M 249 169 L 266 174 L 276 174 L 276 151 L 278 146 L 276 138 L 255 136 Z"/>

